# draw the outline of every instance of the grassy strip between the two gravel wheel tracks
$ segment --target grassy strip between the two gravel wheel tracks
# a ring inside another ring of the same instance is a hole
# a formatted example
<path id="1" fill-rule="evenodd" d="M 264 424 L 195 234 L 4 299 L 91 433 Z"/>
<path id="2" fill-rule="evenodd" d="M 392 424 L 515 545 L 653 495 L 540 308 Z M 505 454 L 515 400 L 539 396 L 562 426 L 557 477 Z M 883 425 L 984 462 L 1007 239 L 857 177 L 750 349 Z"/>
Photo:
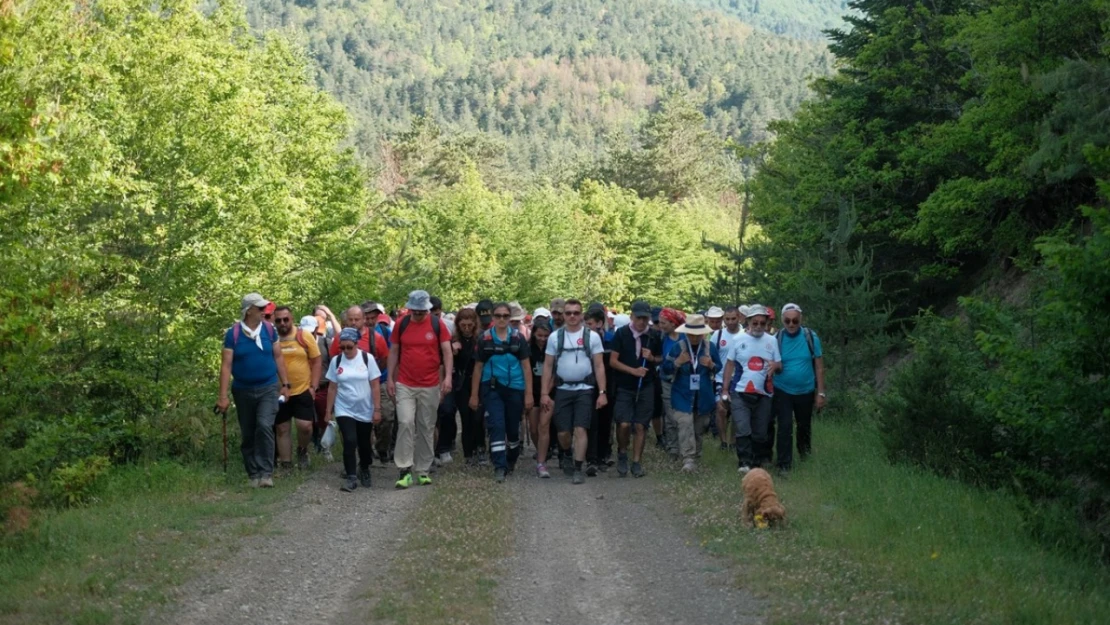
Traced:
<path id="1" fill-rule="evenodd" d="M 424 486 L 432 493 L 402 525 L 406 538 L 389 576 L 373 591 L 373 619 L 493 623 L 497 579 L 514 542 L 512 498 L 488 468 L 451 467 L 432 478 Z"/>

